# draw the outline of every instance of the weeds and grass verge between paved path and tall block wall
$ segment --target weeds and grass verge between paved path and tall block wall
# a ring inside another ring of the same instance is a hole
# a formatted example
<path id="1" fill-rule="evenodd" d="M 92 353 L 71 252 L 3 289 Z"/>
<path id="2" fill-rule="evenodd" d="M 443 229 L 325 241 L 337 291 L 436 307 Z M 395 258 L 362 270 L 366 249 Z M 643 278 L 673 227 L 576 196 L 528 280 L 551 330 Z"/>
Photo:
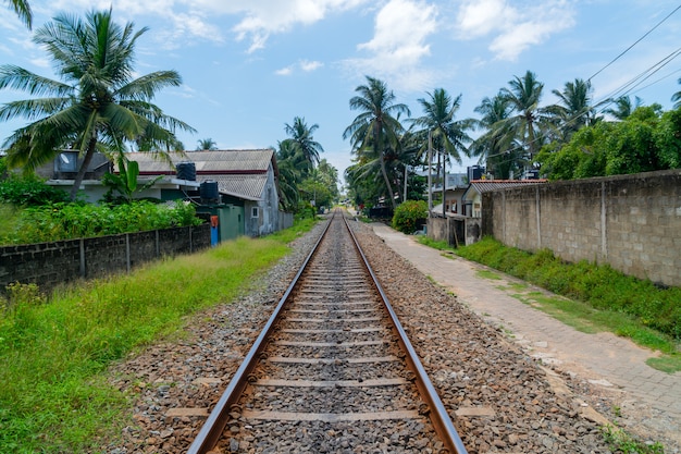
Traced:
<path id="1" fill-rule="evenodd" d="M 486 237 L 454 249 L 428 237 L 420 241 L 442 250 L 546 289 L 562 297 L 513 285 L 518 299 L 532 304 L 584 332 L 611 331 L 663 356 L 648 365 L 666 372 L 681 370 L 681 289 L 663 287 L 586 260 L 568 263 L 550 250 L 530 254 Z"/>

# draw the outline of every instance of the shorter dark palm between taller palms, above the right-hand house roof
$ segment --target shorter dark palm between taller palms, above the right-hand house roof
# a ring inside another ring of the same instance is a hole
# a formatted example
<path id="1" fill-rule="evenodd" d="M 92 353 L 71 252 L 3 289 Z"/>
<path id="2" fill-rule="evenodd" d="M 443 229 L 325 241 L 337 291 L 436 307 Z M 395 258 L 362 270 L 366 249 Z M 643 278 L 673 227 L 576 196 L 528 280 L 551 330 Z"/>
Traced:
<path id="1" fill-rule="evenodd" d="M 474 120 L 478 128 L 485 131 L 470 146 L 471 156 L 480 157 L 480 163 L 498 179 L 508 179 L 511 170 L 516 170 L 519 147 L 513 131 L 507 120 L 512 107 L 502 93 L 490 99 L 485 97 L 475 112 L 482 118 Z"/>

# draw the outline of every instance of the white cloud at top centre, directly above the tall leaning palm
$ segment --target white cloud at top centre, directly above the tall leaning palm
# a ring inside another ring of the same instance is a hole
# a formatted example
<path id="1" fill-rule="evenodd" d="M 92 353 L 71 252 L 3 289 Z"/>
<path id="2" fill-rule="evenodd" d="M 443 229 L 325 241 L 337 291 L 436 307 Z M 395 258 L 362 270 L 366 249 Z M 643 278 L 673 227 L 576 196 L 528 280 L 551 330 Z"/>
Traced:
<path id="1" fill-rule="evenodd" d="M 421 0 L 391 0 L 376 14 L 373 38 L 358 46 L 370 56 L 347 60 L 346 66 L 391 78 L 397 89 L 420 90 L 434 76 L 421 62 L 431 53 L 428 38 L 436 30 L 435 5 Z"/>

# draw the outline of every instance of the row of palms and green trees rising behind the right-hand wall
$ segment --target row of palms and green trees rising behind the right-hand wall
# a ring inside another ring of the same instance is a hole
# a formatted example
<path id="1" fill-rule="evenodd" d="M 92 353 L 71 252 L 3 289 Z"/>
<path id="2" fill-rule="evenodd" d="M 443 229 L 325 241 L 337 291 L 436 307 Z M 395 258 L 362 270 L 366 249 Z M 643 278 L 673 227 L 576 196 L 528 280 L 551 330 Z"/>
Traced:
<path id="1" fill-rule="evenodd" d="M 502 180 L 529 170 L 569 180 L 681 167 L 681 91 L 668 112 L 628 96 L 594 102 L 592 91 L 589 81 L 575 78 L 552 90 L 555 105 L 542 106 L 544 84 L 528 71 L 483 98 L 476 119 L 457 119 L 461 95 L 444 88 L 419 99 L 423 114 L 411 118 L 384 82 L 367 76 L 349 100 L 359 114 L 343 134 L 352 147 L 345 174 L 350 197 L 357 205 L 383 200 L 393 208 L 423 198 L 423 177 L 413 170 L 433 169 L 442 179 L 462 156 L 478 158 Z"/>

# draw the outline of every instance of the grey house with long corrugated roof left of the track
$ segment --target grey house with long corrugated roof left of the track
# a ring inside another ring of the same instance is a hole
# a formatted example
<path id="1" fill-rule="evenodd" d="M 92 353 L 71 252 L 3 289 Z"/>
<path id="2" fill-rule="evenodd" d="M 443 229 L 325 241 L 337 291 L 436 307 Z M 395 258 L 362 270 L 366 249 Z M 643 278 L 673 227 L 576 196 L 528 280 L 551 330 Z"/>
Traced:
<path id="1" fill-rule="evenodd" d="M 198 212 L 220 218 L 223 241 L 240 234 L 265 235 L 293 224 L 293 217 L 278 210 L 278 170 L 273 149 L 171 154 L 173 165 L 147 152 L 126 157 L 139 163 L 140 177 L 195 179 L 199 193 L 186 196 L 200 203 Z"/>

